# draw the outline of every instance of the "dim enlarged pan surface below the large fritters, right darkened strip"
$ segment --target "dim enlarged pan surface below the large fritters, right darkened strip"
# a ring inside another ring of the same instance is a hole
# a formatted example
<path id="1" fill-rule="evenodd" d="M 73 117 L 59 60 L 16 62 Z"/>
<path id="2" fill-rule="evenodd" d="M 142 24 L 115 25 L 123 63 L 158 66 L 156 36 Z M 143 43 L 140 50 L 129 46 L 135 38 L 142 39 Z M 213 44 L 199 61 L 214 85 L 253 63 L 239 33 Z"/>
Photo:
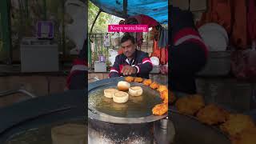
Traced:
<path id="1" fill-rule="evenodd" d="M 174 123 L 174 144 L 230 144 L 229 138 L 214 126 L 202 124 L 198 119 L 169 109 L 169 119 Z"/>

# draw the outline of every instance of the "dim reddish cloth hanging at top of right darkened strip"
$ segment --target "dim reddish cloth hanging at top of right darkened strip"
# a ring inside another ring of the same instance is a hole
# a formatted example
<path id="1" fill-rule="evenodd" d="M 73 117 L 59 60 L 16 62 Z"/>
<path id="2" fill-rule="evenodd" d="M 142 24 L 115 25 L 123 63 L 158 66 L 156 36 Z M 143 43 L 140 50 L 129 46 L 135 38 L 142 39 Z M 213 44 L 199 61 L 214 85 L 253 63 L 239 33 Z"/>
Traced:
<path id="1" fill-rule="evenodd" d="M 246 0 L 210 0 L 209 10 L 202 14 L 197 26 L 208 22 L 216 22 L 223 26 L 230 35 L 231 44 L 246 49 Z"/>

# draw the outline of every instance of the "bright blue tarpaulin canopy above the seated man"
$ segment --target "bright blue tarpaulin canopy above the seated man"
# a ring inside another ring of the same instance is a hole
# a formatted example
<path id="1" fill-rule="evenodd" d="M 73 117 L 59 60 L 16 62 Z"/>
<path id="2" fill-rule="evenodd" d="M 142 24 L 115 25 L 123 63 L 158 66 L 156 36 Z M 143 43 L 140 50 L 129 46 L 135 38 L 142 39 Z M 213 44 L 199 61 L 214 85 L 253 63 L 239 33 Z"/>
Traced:
<path id="1" fill-rule="evenodd" d="M 168 22 L 168 0 L 90 0 L 107 14 L 121 18 L 145 14 L 158 22 Z"/>

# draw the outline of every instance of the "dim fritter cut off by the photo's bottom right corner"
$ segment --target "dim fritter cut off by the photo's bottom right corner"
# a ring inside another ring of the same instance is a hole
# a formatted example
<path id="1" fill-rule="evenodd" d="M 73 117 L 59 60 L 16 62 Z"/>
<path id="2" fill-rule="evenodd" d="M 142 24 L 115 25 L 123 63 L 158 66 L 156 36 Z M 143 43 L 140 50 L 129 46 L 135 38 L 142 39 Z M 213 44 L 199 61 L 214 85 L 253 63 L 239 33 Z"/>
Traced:
<path id="1" fill-rule="evenodd" d="M 256 127 L 242 130 L 241 133 L 231 137 L 232 144 L 254 144 L 256 142 Z"/>

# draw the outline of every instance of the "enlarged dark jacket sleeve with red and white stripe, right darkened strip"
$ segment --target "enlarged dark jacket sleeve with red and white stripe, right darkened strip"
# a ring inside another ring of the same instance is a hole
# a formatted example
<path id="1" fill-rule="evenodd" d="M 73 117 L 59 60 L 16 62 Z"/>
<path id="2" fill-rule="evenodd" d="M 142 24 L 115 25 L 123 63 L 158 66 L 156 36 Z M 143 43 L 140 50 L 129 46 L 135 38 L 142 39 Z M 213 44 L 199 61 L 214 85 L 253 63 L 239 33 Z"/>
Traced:
<path id="1" fill-rule="evenodd" d="M 173 6 L 169 7 L 169 12 L 170 88 L 195 94 L 195 75 L 205 66 L 208 51 L 194 26 L 193 14 Z"/>

